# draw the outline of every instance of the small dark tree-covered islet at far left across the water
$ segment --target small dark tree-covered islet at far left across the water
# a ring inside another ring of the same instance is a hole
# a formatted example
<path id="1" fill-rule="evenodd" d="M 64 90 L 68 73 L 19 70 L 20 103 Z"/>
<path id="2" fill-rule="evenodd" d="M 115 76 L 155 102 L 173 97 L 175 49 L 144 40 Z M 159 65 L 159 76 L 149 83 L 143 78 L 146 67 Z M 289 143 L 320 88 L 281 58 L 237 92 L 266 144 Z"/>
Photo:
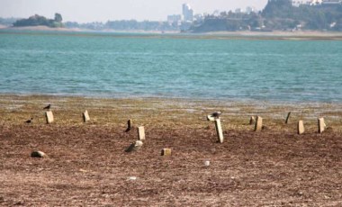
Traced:
<path id="1" fill-rule="evenodd" d="M 14 27 L 26 26 L 48 26 L 48 27 L 63 27 L 63 18 L 61 14 L 56 13 L 54 19 L 48 19 L 44 16 L 35 14 L 28 19 L 21 19 L 14 22 Z"/>

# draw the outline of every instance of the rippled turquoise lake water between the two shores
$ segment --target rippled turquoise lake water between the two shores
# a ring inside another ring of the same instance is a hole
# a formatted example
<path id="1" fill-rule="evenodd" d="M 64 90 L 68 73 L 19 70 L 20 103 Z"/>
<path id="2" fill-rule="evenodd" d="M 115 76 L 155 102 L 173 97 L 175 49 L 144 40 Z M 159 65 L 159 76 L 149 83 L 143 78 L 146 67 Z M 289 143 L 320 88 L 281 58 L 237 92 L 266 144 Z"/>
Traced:
<path id="1" fill-rule="evenodd" d="M 0 32 L 0 94 L 342 102 L 342 41 Z"/>

